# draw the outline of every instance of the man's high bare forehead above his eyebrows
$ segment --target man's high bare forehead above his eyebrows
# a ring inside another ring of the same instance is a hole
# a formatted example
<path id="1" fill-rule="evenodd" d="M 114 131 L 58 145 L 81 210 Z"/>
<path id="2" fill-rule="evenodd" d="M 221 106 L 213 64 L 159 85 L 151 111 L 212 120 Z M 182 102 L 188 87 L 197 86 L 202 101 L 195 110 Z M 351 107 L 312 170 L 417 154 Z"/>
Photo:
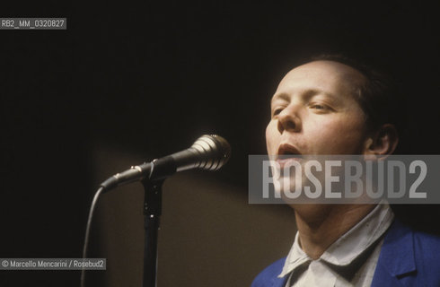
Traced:
<path id="1" fill-rule="evenodd" d="M 291 70 L 278 84 L 277 92 L 324 91 L 340 96 L 353 94 L 365 77 L 355 68 L 333 61 L 314 61 Z"/>

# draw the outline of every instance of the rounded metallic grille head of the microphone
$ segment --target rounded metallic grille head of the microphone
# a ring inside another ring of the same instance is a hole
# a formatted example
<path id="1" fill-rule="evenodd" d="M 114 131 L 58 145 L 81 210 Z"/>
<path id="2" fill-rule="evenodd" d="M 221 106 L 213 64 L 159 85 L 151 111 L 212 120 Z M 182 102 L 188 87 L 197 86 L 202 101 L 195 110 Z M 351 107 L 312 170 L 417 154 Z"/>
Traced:
<path id="1" fill-rule="evenodd" d="M 191 149 L 203 155 L 203 160 L 198 162 L 198 168 L 203 170 L 218 170 L 231 157 L 231 145 L 220 135 L 202 135 Z"/>

